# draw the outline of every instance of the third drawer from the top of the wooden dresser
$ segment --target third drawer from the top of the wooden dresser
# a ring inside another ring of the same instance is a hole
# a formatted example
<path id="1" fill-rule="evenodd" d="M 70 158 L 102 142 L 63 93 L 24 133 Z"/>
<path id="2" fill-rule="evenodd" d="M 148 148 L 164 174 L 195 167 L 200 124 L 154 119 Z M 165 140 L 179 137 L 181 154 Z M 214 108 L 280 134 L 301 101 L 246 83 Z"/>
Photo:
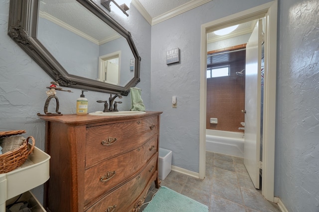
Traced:
<path id="1" fill-rule="evenodd" d="M 125 212 L 133 202 L 136 202 L 140 194 L 148 185 L 154 173 L 157 172 L 158 154 L 155 154 L 150 162 L 145 166 L 143 171 L 136 175 L 132 180 L 124 184 L 119 189 L 108 194 L 95 205 L 87 210 L 87 212 L 105 212 L 109 211 Z"/>

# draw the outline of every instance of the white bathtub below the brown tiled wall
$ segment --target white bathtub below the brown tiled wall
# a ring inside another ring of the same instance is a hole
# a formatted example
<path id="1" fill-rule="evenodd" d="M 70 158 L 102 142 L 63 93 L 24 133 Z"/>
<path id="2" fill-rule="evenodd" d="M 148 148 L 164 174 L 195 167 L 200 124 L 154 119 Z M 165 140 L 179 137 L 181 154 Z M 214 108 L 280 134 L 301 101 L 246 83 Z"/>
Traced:
<path id="1" fill-rule="evenodd" d="M 244 133 L 206 130 L 206 151 L 244 157 Z"/>

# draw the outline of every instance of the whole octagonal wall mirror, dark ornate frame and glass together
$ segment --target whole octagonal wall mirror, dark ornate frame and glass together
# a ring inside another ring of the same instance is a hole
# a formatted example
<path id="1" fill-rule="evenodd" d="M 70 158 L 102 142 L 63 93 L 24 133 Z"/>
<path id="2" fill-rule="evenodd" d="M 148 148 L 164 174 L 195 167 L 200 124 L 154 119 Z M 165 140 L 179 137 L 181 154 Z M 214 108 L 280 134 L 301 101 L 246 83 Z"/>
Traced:
<path id="1" fill-rule="evenodd" d="M 60 86 L 128 95 L 141 58 L 92 0 L 10 0 L 8 35 Z"/>

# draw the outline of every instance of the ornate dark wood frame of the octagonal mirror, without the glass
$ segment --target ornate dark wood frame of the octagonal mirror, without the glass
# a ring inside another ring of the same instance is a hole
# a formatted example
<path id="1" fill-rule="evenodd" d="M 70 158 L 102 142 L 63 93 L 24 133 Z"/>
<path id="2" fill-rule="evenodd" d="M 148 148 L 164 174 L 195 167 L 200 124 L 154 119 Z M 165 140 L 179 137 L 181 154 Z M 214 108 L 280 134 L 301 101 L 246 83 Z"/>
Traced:
<path id="1" fill-rule="evenodd" d="M 114 85 L 69 74 L 36 38 L 39 0 L 10 0 L 8 35 L 60 86 L 128 95 L 140 82 L 139 56 L 131 33 L 91 0 L 77 0 L 115 31 L 126 38 L 135 57 L 134 77 L 125 86 Z"/>

